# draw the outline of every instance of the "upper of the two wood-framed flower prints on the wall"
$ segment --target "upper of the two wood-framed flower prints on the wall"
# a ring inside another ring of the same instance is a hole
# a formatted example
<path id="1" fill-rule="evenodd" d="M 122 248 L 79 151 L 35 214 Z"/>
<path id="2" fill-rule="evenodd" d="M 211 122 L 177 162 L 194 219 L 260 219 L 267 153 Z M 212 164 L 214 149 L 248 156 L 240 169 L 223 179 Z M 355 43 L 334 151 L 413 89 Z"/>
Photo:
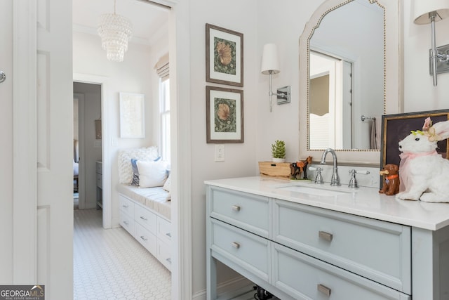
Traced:
<path id="1" fill-rule="evenodd" d="M 206 81 L 243 86 L 243 34 L 206 23 Z"/>

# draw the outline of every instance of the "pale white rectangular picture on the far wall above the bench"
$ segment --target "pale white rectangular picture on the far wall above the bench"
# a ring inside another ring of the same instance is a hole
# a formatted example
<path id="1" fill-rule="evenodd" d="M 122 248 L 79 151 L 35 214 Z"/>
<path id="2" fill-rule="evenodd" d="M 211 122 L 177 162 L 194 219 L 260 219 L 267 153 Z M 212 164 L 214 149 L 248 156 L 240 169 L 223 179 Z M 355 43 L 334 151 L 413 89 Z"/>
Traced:
<path id="1" fill-rule="evenodd" d="M 120 137 L 145 138 L 145 95 L 119 93 Z"/>

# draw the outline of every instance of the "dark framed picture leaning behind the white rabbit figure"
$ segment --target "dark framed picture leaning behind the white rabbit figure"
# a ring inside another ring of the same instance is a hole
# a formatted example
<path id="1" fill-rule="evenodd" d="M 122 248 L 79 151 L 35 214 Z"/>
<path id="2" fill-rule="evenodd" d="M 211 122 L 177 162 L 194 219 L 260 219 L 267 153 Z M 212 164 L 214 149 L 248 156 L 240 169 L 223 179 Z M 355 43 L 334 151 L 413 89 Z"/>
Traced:
<path id="1" fill-rule="evenodd" d="M 430 117 L 433 124 L 449 120 L 449 110 L 431 110 L 425 112 L 409 112 L 396 115 L 382 115 L 382 139 L 380 168 L 386 164 L 399 166 L 401 157 L 398 143 L 406 138 L 412 130 L 422 130 L 424 120 Z M 448 159 L 449 139 L 439 141 L 437 152 Z"/>

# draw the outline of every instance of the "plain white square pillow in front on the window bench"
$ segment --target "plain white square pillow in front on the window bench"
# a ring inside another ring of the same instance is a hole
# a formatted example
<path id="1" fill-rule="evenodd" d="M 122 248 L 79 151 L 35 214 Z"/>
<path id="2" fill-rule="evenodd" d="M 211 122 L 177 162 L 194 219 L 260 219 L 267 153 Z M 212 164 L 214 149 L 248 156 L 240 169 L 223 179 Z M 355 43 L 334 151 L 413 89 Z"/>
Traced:
<path id="1" fill-rule="evenodd" d="M 162 186 L 167 179 L 167 166 L 165 162 L 145 162 L 138 160 L 140 188 L 153 188 Z"/>

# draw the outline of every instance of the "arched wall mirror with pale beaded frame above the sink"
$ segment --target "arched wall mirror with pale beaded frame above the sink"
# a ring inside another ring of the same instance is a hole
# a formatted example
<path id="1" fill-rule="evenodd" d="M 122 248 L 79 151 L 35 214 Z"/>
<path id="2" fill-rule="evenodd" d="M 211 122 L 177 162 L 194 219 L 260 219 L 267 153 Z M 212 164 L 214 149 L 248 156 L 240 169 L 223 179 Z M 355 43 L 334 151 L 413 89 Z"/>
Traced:
<path id="1" fill-rule="evenodd" d="M 380 164 L 381 116 L 402 112 L 398 6 L 399 0 L 328 0 L 305 25 L 301 158 L 319 160 L 334 148 L 340 162 Z"/>

